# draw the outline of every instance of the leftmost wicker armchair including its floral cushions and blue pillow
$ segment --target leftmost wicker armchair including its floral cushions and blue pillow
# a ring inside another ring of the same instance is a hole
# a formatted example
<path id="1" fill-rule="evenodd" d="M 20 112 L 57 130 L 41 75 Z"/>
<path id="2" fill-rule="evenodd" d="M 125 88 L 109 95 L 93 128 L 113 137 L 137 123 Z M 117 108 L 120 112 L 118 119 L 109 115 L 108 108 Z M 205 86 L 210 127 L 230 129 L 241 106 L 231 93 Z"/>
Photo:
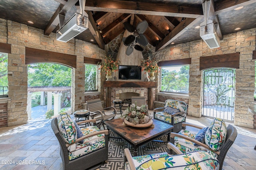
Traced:
<path id="1" fill-rule="evenodd" d="M 91 121 L 96 122 L 90 119 L 77 124 Z M 108 159 L 108 130 L 88 126 L 80 131 L 67 113 L 52 119 L 51 127 L 60 144 L 64 170 L 95 170 Z"/>

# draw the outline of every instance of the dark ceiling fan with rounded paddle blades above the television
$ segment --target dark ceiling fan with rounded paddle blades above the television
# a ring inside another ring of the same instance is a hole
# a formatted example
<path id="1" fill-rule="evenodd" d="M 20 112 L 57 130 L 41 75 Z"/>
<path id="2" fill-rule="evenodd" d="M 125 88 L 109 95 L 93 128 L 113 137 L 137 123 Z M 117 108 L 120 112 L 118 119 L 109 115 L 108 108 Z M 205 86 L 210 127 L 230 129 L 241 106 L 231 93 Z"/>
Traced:
<path id="1" fill-rule="evenodd" d="M 148 45 L 148 39 L 146 38 L 143 33 L 148 28 L 147 21 L 142 21 L 138 23 L 136 26 L 136 29 L 128 22 L 124 23 L 124 28 L 129 31 L 130 33 L 133 33 L 133 35 L 129 35 L 128 37 L 124 37 L 122 41 L 124 42 L 125 46 L 128 46 L 126 49 L 126 55 L 130 55 L 133 51 L 133 48 L 138 51 L 143 51 L 143 48 L 140 46 L 146 46 Z M 140 44 L 137 45 L 136 43 Z"/>

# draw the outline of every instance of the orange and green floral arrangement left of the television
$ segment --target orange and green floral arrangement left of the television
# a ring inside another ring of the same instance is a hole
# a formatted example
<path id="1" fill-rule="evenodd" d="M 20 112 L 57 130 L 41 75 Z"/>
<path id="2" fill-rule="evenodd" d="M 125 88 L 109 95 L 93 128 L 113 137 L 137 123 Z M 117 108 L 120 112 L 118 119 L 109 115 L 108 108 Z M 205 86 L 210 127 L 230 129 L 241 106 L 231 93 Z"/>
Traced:
<path id="1" fill-rule="evenodd" d="M 111 74 L 111 72 L 118 71 L 118 59 L 115 60 L 112 55 L 106 55 L 106 57 L 103 59 L 103 63 L 100 68 L 103 67 L 103 69 L 106 71 L 106 74 Z"/>

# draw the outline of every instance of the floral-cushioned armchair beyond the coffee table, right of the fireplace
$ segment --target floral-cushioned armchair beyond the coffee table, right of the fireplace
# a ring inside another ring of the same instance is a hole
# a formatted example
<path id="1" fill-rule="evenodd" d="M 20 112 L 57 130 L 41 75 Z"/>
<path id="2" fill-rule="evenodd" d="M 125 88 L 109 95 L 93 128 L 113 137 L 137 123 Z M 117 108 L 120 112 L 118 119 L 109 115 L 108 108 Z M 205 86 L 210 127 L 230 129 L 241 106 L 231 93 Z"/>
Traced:
<path id="1" fill-rule="evenodd" d="M 164 121 L 174 126 L 173 132 L 182 129 L 182 123 L 186 122 L 188 105 L 182 101 L 168 99 L 164 107 L 154 109 L 154 119 Z"/>

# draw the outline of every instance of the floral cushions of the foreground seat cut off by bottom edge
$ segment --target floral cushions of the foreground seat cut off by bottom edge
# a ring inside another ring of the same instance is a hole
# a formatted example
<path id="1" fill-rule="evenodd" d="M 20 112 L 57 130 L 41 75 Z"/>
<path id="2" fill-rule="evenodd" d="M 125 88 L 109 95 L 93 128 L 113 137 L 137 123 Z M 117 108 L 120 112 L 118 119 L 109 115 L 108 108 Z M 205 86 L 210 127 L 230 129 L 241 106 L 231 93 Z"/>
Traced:
<path id="1" fill-rule="evenodd" d="M 167 153 L 133 157 L 136 170 L 204 170 L 219 169 L 218 160 L 206 151 L 194 151 L 187 154 L 168 155 Z M 126 170 L 130 170 L 128 162 Z"/>

